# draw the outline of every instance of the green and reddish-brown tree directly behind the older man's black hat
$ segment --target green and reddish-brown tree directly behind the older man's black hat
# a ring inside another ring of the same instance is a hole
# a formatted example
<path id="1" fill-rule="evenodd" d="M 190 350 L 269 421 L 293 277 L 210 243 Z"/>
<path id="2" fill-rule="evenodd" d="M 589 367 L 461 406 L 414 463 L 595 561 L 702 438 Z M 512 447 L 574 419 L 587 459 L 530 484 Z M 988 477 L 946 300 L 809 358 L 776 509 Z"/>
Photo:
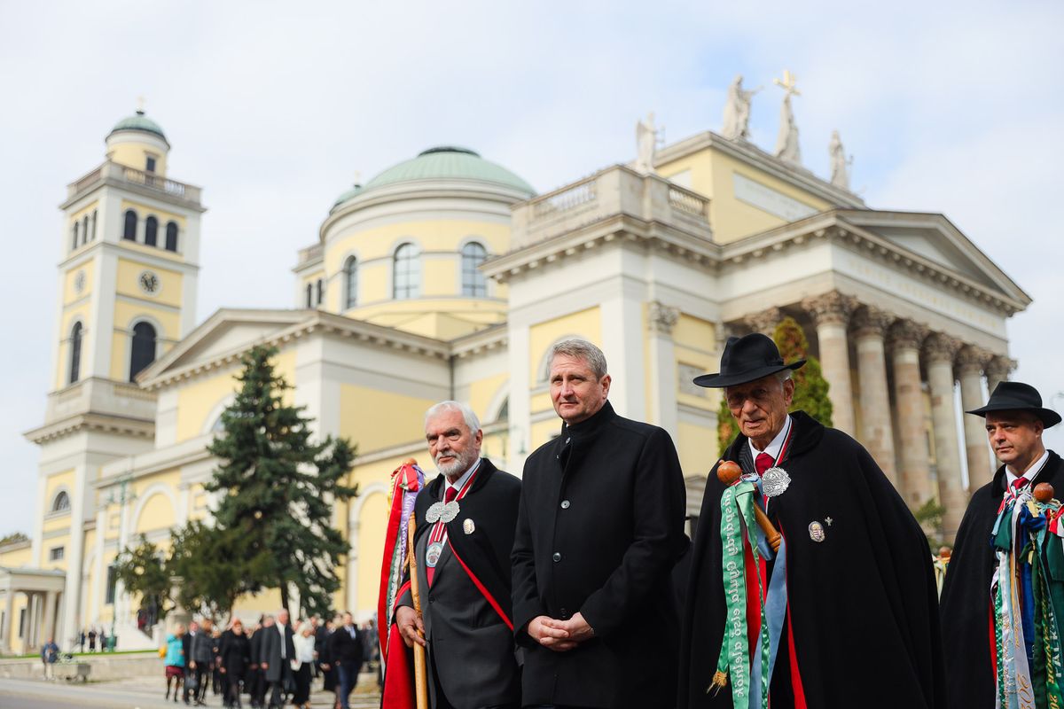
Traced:
<path id="1" fill-rule="evenodd" d="M 789 410 L 805 411 L 824 425 L 830 426 L 831 399 L 828 398 L 828 381 L 820 371 L 820 360 L 809 355 L 809 339 L 805 337 L 805 332 L 794 318 L 787 316 L 776 325 L 772 340 L 779 348 L 784 362 L 807 360 L 804 367 L 792 374 L 795 381 L 795 395 Z M 732 418 L 721 390 L 720 406 L 717 408 L 717 443 L 720 446 L 718 455 L 725 454 L 738 433 L 738 426 Z"/>

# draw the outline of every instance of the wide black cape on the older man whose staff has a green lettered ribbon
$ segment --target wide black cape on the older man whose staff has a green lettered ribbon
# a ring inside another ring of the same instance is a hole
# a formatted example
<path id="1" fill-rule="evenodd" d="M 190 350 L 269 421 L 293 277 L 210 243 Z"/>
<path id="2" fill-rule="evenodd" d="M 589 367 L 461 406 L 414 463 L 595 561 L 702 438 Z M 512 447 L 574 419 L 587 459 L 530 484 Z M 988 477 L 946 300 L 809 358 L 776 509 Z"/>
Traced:
<path id="1" fill-rule="evenodd" d="M 794 438 L 780 466 L 791 485 L 768 504 L 786 540 L 786 590 L 797 664 L 809 707 L 920 709 L 945 706 L 937 589 L 922 530 L 860 443 L 792 415 Z M 725 455 L 753 471 L 745 436 Z M 706 693 L 725 625 L 720 495 L 709 475 L 692 552 L 682 643 L 682 708 L 731 707 L 731 683 Z M 830 518 L 830 522 L 829 522 Z M 822 541 L 810 524 L 822 526 Z M 784 627 L 770 685 L 789 706 Z"/>

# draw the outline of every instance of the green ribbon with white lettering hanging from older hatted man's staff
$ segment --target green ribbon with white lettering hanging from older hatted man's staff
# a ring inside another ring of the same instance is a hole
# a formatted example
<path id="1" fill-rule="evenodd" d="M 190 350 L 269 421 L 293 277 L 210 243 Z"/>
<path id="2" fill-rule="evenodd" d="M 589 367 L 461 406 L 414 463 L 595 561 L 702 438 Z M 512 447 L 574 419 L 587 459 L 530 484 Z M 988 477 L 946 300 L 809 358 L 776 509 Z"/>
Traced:
<path id="1" fill-rule="evenodd" d="M 753 552 L 754 568 L 760 568 L 757 526 L 753 514 L 753 483 L 739 480 L 726 488 L 720 495 L 720 542 L 721 567 L 724 569 L 725 634 L 717 658 L 717 671 L 706 692 L 719 690 L 732 678 L 732 706 L 749 709 L 750 706 L 750 657 L 748 628 L 746 623 L 746 570 L 743 552 L 743 528 Z M 761 706 L 768 707 L 768 622 L 765 620 L 764 589 L 761 574 L 758 574 L 758 598 L 761 602 Z"/>

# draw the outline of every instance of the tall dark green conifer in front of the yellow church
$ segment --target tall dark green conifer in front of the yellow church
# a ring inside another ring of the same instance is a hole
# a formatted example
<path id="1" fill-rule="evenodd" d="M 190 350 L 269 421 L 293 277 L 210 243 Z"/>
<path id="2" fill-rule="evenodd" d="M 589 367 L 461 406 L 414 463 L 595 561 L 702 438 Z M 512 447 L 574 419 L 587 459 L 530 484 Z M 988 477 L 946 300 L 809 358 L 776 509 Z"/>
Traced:
<path id="1" fill-rule="evenodd" d="M 336 564 L 349 548 L 332 526 L 332 501 L 358 494 L 345 478 L 354 451 L 346 439 L 311 440 L 312 419 L 288 406 L 290 387 L 273 371 L 276 348 L 245 354 L 237 377 L 240 390 L 221 415 L 223 433 L 207 450 L 219 459 L 205 486 L 221 491 L 217 527 L 239 535 L 246 544 L 247 580 L 279 588 L 289 605 L 289 585 L 306 612 L 328 612 L 339 589 Z"/>

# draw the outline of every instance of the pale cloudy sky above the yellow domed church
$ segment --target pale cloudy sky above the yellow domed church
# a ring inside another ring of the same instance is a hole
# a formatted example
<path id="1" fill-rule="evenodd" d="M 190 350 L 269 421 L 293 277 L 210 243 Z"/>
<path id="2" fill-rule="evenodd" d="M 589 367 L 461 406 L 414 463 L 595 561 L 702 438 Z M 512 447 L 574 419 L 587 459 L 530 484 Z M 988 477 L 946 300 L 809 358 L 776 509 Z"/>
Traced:
<path id="1" fill-rule="evenodd" d="M 737 73 L 772 150 L 789 69 L 804 165 L 829 174 L 837 129 L 868 206 L 949 217 L 1034 299 L 1013 378 L 1064 409 L 1062 30 L 1064 4 L 1024 1 L 0 0 L 0 536 L 35 514 L 57 204 L 137 97 L 204 188 L 201 321 L 293 307 L 297 250 L 360 174 L 461 145 L 547 191 L 632 159 L 649 111 L 669 142 L 719 130 Z"/>

